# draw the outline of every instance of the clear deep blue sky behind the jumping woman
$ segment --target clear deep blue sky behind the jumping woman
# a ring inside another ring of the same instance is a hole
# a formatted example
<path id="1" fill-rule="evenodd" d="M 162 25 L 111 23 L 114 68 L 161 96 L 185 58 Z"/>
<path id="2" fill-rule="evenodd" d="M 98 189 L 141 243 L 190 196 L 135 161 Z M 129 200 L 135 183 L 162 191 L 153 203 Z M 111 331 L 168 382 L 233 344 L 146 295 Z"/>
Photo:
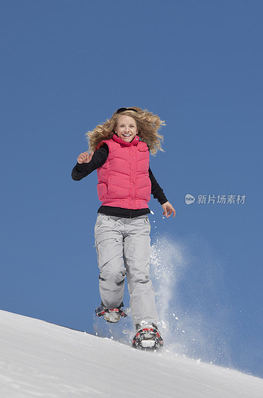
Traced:
<path id="1" fill-rule="evenodd" d="M 198 311 L 204 345 L 216 324 L 215 351 L 227 346 L 214 362 L 263 377 L 262 14 L 262 1 L 1 2 L 2 309 L 93 333 L 97 176 L 71 171 L 85 133 L 137 105 L 166 122 L 150 167 L 176 216 L 148 204 L 174 270 L 167 313 L 184 327 Z"/>

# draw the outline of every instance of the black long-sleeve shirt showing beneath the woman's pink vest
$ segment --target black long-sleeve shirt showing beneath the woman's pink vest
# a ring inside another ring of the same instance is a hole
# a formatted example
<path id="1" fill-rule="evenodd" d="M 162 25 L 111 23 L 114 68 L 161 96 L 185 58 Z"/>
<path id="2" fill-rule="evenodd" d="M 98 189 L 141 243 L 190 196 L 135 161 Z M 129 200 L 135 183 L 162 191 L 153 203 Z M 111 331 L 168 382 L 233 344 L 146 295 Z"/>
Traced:
<path id="1" fill-rule="evenodd" d="M 149 147 L 148 147 L 149 150 Z M 101 167 L 109 154 L 109 147 L 107 144 L 103 144 L 99 149 L 94 151 L 90 162 L 88 163 L 77 163 L 74 169 L 72 170 L 71 177 L 75 181 L 80 181 L 84 177 L 88 176 L 88 174 L 92 173 L 92 171 Z M 149 178 L 152 183 L 151 194 L 155 199 L 158 199 L 160 204 L 166 203 L 168 200 L 165 197 L 165 194 L 156 181 L 150 167 L 149 167 Z M 125 217 L 125 218 L 134 218 L 139 215 L 149 214 L 150 209 L 147 208 L 139 208 L 139 209 L 129 209 L 123 207 L 115 207 L 115 206 L 100 206 L 98 213 L 103 213 L 106 215 L 114 215 L 117 217 Z"/>

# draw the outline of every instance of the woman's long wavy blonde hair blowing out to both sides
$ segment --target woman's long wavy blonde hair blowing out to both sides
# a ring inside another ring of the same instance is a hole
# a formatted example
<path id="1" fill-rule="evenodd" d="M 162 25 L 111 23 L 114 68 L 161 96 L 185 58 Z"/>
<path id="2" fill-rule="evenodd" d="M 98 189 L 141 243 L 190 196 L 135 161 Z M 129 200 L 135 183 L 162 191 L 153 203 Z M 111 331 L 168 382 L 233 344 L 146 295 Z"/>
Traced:
<path id="1" fill-rule="evenodd" d="M 112 138 L 118 119 L 121 115 L 131 116 L 137 124 L 138 133 L 141 141 L 144 141 L 150 149 L 150 153 L 155 156 L 158 150 L 165 152 L 161 148 L 161 143 L 164 141 L 164 136 L 158 134 L 158 130 L 161 125 L 166 126 L 165 121 L 161 120 L 159 116 L 154 115 L 153 112 L 149 112 L 147 109 L 141 109 L 138 106 L 129 106 L 137 110 L 124 110 L 121 113 L 113 113 L 110 119 L 107 119 L 104 123 L 98 124 L 94 130 L 88 131 L 86 139 L 88 140 L 88 151 L 94 151 L 98 143 L 103 140 L 109 140 Z"/>

